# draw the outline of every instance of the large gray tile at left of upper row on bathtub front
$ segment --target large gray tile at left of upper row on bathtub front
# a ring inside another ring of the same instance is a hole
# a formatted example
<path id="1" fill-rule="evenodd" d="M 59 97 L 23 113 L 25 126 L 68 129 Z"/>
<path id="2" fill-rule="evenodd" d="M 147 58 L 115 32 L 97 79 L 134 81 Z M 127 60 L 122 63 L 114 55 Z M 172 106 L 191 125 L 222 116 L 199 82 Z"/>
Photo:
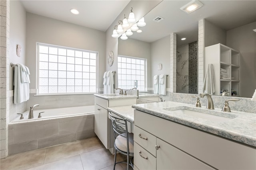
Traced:
<path id="1" fill-rule="evenodd" d="M 14 143 L 58 135 L 58 119 L 14 124 Z"/>

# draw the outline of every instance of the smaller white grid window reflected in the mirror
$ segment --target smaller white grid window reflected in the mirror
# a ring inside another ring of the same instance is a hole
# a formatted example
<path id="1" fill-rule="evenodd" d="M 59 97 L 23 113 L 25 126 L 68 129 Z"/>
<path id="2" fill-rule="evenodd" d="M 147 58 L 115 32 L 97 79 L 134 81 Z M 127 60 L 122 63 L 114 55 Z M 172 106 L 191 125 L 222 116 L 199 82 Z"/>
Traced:
<path id="1" fill-rule="evenodd" d="M 146 59 L 118 56 L 118 88 L 145 91 Z"/>

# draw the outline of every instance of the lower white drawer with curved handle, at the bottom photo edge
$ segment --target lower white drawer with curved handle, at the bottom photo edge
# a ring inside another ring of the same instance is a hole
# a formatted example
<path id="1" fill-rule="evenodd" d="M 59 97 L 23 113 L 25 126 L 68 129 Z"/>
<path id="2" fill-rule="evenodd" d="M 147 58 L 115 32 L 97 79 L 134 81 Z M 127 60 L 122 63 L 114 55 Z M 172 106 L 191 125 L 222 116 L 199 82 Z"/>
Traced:
<path id="1" fill-rule="evenodd" d="M 143 157 L 144 158 L 143 158 Z M 148 159 L 145 159 L 148 158 Z M 139 170 L 155 170 L 156 158 L 140 145 L 134 142 L 134 165 Z"/>

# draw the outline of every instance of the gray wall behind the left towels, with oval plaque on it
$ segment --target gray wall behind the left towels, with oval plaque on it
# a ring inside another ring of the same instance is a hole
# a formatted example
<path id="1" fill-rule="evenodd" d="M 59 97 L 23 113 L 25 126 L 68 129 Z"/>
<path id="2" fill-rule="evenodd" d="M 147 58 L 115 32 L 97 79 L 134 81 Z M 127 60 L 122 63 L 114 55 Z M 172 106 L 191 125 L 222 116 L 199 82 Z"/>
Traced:
<path id="1" fill-rule="evenodd" d="M 17 45 L 21 45 L 21 57 L 16 55 Z M 10 63 L 26 64 L 26 11 L 20 1 L 10 1 Z M 10 119 L 12 121 L 18 115 L 26 110 L 26 102 L 13 104 L 13 70 L 10 67 Z"/>

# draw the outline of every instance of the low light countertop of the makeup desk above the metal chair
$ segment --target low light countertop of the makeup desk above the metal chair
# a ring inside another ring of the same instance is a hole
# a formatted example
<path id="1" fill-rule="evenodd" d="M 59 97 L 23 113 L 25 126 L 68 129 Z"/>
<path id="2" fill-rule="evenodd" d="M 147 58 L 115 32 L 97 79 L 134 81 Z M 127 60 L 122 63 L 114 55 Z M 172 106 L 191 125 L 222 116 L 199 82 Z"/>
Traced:
<path id="1" fill-rule="evenodd" d="M 132 105 L 108 107 L 108 110 L 120 117 L 126 118 L 131 123 L 134 122 L 134 108 L 132 108 Z"/>

